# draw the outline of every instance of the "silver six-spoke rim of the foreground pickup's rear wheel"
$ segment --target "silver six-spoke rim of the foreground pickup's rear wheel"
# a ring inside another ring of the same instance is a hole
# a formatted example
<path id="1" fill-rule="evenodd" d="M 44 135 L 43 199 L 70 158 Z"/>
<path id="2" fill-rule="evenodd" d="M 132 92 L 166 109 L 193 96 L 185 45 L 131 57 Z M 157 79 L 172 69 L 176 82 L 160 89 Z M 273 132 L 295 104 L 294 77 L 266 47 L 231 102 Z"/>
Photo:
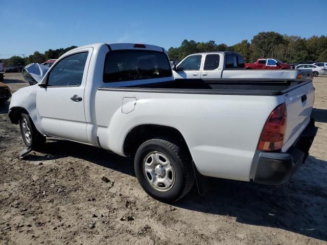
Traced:
<path id="1" fill-rule="evenodd" d="M 175 183 L 175 170 L 168 157 L 160 152 L 150 152 L 143 160 L 143 174 L 150 186 L 158 191 L 168 191 Z"/>

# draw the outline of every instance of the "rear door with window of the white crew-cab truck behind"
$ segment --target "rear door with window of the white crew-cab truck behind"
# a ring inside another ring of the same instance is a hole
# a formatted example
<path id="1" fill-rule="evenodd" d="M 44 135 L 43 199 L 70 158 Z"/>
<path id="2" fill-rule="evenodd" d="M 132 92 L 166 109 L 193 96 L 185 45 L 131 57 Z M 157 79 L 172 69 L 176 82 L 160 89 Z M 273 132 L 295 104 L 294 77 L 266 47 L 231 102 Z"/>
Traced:
<path id="1" fill-rule="evenodd" d="M 222 68 L 219 65 L 220 55 L 219 54 L 207 54 L 204 58 L 204 65 L 201 71 L 201 78 L 217 79 L 221 78 Z"/>

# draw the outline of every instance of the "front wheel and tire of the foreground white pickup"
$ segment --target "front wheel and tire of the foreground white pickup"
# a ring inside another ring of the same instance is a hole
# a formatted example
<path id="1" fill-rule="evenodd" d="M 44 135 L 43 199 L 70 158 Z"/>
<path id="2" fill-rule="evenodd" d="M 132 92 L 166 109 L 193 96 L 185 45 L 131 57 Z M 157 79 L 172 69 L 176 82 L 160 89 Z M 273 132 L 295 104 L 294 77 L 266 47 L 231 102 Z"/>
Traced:
<path id="1" fill-rule="evenodd" d="M 22 113 L 19 119 L 20 134 L 26 146 L 32 150 L 40 150 L 44 146 L 45 137 L 34 126 L 29 114 Z"/>

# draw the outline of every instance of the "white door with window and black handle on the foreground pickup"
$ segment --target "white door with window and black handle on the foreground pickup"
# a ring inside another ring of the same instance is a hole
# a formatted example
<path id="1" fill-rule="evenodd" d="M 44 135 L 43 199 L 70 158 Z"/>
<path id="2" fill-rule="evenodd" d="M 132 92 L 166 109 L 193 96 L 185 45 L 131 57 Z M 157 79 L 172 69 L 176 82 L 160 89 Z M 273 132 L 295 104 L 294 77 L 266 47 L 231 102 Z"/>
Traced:
<path id="1" fill-rule="evenodd" d="M 46 87 L 38 89 L 36 108 L 47 135 L 88 142 L 84 89 L 91 53 L 86 48 L 60 59 L 49 70 Z"/>

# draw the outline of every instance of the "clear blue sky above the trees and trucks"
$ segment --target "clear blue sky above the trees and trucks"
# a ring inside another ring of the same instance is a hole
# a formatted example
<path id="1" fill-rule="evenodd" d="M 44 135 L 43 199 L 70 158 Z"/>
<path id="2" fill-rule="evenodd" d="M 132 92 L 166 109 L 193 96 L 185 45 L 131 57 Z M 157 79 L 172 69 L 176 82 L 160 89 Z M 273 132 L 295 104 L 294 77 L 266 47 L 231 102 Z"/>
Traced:
<path id="1" fill-rule="evenodd" d="M 327 35 L 327 1 L 0 0 L 0 58 L 96 42 L 227 45 L 264 31 Z"/>

